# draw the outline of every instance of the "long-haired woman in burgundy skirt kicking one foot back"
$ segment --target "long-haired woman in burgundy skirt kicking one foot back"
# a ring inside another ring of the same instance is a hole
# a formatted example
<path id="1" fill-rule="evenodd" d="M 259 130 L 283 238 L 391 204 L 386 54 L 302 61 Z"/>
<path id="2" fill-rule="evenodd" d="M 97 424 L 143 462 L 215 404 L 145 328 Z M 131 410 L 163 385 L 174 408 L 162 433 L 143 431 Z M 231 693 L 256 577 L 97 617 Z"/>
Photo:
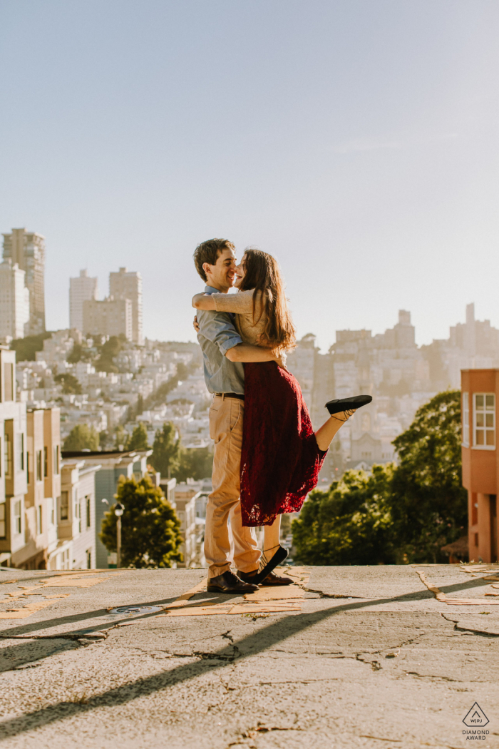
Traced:
<path id="1" fill-rule="evenodd" d="M 233 312 L 243 342 L 268 346 L 285 362 L 296 346 L 281 271 L 272 255 L 248 248 L 236 268 L 238 294 L 196 294 L 192 306 Z M 245 416 L 241 455 L 244 526 L 264 527 L 263 555 L 254 583 L 287 557 L 279 544 L 281 513 L 298 512 L 316 487 L 334 435 L 355 409 L 372 400 L 357 395 L 326 404 L 328 420 L 314 433 L 296 377 L 275 362 L 245 364 Z"/>

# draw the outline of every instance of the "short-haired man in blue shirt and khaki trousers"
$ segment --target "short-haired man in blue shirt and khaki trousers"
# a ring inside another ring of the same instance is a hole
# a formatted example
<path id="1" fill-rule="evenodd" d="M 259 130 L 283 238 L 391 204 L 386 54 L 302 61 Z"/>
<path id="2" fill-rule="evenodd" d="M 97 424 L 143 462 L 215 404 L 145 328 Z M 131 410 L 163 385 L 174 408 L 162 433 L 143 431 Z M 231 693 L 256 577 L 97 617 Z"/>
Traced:
<path id="1" fill-rule="evenodd" d="M 227 294 L 236 276 L 233 243 L 211 239 L 194 253 L 196 270 L 206 283 L 206 294 Z M 212 492 L 206 505 L 204 556 L 209 565 L 208 590 L 252 592 L 257 585 L 230 571 L 228 519 L 234 540 L 234 564 L 242 574 L 258 568 L 260 551 L 254 529 L 243 527 L 239 503 L 239 475 L 244 414 L 243 362 L 275 361 L 269 349 L 242 342 L 227 312 L 198 312 L 198 342 L 203 351 L 204 378 L 213 393 L 209 436 L 215 442 Z"/>

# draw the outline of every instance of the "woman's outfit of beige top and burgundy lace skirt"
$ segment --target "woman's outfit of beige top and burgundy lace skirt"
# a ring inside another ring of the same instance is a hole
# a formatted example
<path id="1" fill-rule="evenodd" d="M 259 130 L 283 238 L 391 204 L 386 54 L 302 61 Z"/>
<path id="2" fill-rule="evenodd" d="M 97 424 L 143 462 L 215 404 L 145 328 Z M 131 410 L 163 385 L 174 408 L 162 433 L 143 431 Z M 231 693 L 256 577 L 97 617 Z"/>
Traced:
<path id="1" fill-rule="evenodd" d="M 244 342 L 256 343 L 263 326 L 253 324 L 253 291 L 212 297 L 217 310 L 236 312 Z M 277 515 L 298 512 L 317 485 L 325 455 L 296 377 L 275 362 L 245 364 L 242 525 L 272 525 Z"/>

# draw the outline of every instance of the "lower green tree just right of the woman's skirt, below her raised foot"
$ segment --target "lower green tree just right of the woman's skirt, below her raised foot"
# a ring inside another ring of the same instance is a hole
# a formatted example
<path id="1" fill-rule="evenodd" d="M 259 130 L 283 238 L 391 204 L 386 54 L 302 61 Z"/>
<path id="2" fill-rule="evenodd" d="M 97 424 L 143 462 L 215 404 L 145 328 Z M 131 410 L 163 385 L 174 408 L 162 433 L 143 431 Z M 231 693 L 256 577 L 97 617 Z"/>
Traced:
<path id="1" fill-rule="evenodd" d="M 296 561 L 314 565 L 394 562 L 389 504 L 394 466 L 347 471 L 329 491 L 313 491 L 293 521 Z"/>

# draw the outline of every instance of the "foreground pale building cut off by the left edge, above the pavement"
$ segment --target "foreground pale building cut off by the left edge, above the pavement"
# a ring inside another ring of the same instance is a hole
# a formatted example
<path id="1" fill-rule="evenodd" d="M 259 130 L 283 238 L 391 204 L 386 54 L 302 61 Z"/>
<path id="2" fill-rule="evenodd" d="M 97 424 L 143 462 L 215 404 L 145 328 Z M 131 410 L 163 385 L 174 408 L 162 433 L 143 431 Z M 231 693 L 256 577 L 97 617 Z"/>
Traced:
<path id="1" fill-rule="evenodd" d="M 0 564 L 25 546 L 26 404 L 16 402 L 16 354 L 0 348 Z"/>

